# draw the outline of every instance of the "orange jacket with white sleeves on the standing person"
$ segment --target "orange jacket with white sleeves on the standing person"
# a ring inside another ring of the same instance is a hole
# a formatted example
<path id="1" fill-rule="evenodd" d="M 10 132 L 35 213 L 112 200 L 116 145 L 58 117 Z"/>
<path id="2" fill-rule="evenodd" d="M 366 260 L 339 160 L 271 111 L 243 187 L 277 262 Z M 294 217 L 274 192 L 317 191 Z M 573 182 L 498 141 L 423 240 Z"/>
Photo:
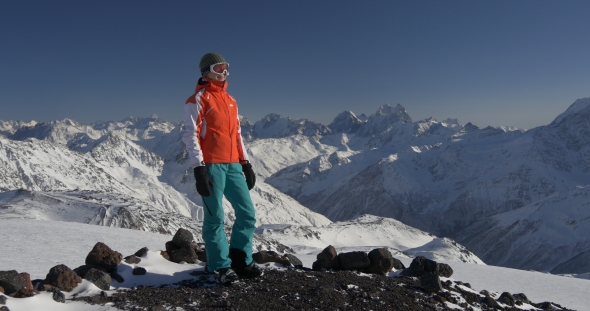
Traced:
<path id="1" fill-rule="evenodd" d="M 186 100 L 182 141 L 193 166 L 248 161 L 238 104 L 226 88 L 227 81 L 201 78 L 195 94 Z"/>

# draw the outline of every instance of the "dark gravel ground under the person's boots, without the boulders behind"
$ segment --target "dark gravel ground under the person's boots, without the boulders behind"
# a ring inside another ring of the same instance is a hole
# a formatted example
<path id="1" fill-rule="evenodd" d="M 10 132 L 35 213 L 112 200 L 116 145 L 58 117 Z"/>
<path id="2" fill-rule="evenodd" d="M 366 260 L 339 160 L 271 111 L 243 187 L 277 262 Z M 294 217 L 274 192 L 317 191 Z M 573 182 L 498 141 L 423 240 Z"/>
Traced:
<path id="1" fill-rule="evenodd" d="M 353 271 L 266 270 L 262 277 L 218 285 L 211 274 L 169 287 L 139 287 L 111 296 L 77 298 L 112 303 L 120 310 L 567 310 L 554 303 L 530 303 L 524 295 L 494 297 L 468 284 L 443 281 L 425 292 L 415 277 L 386 277 Z M 496 295 L 498 296 L 498 295 Z M 498 301 L 508 304 L 499 304 Z M 506 300 L 508 299 L 508 300 Z M 512 304 L 513 306 L 510 306 Z M 519 307 L 520 308 L 517 308 Z M 534 307 L 534 308 L 533 308 Z"/>

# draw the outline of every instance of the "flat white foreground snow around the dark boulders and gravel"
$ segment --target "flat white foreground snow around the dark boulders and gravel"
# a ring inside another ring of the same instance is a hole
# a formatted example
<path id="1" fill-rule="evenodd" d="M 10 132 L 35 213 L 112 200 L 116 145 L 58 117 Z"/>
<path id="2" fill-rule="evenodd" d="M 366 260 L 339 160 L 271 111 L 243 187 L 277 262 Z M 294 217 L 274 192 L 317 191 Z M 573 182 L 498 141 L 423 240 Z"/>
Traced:
<path id="1" fill-rule="evenodd" d="M 175 264 L 163 259 L 159 250 L 164 248 L 165 242 L 171 240 L 169 235 L 59 221 L 0 219 L 0 236 L 8 237 L 0 243 L 0 253 L 3 254 L 0 257 L 0 269 L 28 272 L 31 279 L 44 278 L 49 269 L 57 264 L 65 264 L 70 268 L 84 264 L 86 255 L 99 241 L 123 256 L 135 253 L 141 247 L 148 247 L 150 251 L 146 257 L 141 258 L 140 264 L 122 263 L 118 267 L 118 272 L 126 281 L 123 284 L 113 282 L 108 294 L 133 286 L 170 284 L 190 279 L 191 271 L 203 269 L 202 264 Z M 338 250 L 366 251 L 373 247 L 363 246 L 362 243 L 354 245 L 355 243 L 359 241 L 341 244 Z M 319 251 L 319 248 L 308 248 L 307 252 L 298 252 L 296 256 L 304 266 L 310 267 Z M 396 257 L 406 266 L 412 260 L 403 254 Z M 438 261 L 451 265 L 454 270 L 451 280 L 470 283 L 476 292 L 486 289 L 496 293 L 524 293 L 534 302 L 552 301 L 575 310 L 588 310 L 590 305 L 590 296 L 587 294 L 590 283 L 585 279 L 457 261 Z M 145 276 L 133 276 L 130 271 L 135 266 L 145 268 L 148 273 Z M 76 293 L 96 295 L 99 292 L 100 289 L 96 286 L 83 281 L 65 294 L 66 298 L 71 298 Z M 65 304 L 57 303 L 50 293 L 22 299 L 7 297 L 6 306 L 12 311 L 116 310 L 109 305 L 93 306 L 71 300 L 66 300 Z"/>

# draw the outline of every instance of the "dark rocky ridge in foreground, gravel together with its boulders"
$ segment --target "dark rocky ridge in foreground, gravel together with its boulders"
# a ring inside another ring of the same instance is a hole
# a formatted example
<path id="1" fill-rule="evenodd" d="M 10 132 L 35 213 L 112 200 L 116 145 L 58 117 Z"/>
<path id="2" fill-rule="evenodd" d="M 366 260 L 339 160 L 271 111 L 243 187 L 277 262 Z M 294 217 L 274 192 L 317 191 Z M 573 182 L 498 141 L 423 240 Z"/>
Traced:
<path id="1" fill-rule="evenodd" d="M 192 253 L 178 256 L 175 262 L 179 263 L 206 258 L 197 255 L 203 251 L 184 229 L 166 243 L 166 249 L 169 254 L 162 252 L 162 256 L 170 255 L 170 260 L 177 257 L 172 254 L 177 250 Z M 0 295 L 0 304 L 7 299 L 26 299 L 39 291 L 51 292 L 55 301 L 65 302 L 63 292 L 71 291 L 84 278 L 103 291 L 74 300 L 109 303 L 120 310 L 568 310 L 551 302 L 532 303 L 521 293 L 477 292 L 467 283 L 446 279 L 453 273 L 449 265 L 424 257 L 416 257 L 406 269 L 386 249 L 338 254 L 331 246 L 317 255 L 313 269 L 300 265 L 294 256 L 257 253 L 254 257 L 265 270 L 259 278 L 221 285 L 215 283 L 212 274 L 195 270 L 192 278 L 180 283 L 117 290 L 117 284 L 124 282 L 118 274 L 122 261 L 135 266 L 133 278 L 142 278 L 146 270 L 140 265 L 148 251 L 142 248 L 123 258 L 98 242 L 84 265 L 74 270 L 57 265 L 44 280 L 31 281 L 26 273 L 0 271 L 0 292 L 4 294 Z M 269 262 L 280 262 L 283 268 Z"/>

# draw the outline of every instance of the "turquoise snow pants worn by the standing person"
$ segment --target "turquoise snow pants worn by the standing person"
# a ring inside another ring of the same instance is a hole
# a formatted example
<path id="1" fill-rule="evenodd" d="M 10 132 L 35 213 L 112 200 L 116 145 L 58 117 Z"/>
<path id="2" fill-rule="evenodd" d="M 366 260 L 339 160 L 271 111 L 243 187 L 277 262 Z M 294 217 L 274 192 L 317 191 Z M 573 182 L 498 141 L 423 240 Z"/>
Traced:
<path id="1" fill-rule="evenodd" d="M 207 173 L 213 181 L 211 195 L 203 197 L 203 240 L 207 252 L 209 271 L 229 268 L 229 249 L 236 248 L 246 253 L 246 264 L 252 262 L 252 236 L 256 229 L 256 213 L 250 198 L 242 165 L 207 164 Z M 225 236 L 222 199 L 231 203 L 236 221 L 232 227 L 231 244 Z"/>

